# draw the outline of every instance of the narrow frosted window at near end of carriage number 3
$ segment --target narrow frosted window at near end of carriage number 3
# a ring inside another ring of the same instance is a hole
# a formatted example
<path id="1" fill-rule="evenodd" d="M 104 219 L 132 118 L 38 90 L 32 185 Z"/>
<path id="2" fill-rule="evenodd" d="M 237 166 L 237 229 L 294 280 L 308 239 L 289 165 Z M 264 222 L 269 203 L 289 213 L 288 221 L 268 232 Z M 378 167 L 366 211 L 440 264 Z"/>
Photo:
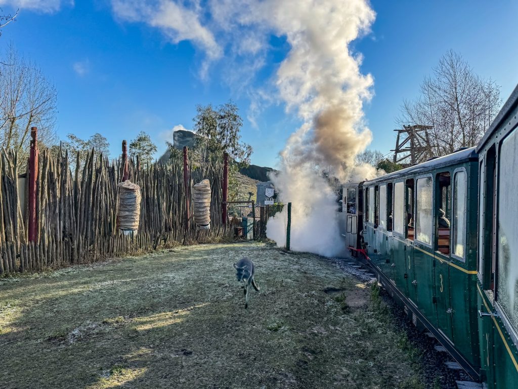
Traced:
<path id="1" fill-rule="evenodd" d="M 466 172 L 456 172 L 453 176 L 453 254 L 465 258 L 466 246 Z"/>

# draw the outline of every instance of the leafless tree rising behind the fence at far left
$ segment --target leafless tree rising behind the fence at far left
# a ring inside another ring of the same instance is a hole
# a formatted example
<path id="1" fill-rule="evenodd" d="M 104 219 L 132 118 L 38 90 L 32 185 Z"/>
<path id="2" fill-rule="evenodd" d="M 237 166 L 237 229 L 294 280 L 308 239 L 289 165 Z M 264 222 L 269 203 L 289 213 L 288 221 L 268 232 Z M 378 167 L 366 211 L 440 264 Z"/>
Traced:
<path id="1" fill-rule="evenodd" d="M 21 58 L 9 46 L 0 63 L 0 145 L 28 158 L 31 127 L 38 127 L 42 145 L 56 140 L 54 123 L 57 112 L 54 85 L 31 61 Z"/>

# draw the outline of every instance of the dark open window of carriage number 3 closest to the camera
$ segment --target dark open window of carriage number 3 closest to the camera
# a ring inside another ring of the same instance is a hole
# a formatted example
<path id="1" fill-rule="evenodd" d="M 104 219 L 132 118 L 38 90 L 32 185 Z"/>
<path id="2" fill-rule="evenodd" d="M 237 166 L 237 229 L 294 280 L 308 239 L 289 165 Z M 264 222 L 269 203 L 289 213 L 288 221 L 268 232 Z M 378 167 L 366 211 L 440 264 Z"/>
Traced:
<path id="1" fill-rule="evenodd" d="M 450 172 L 441 172 L 436 176 L 436 216 L 437 216 L 437 251 L 450 254 L 451 220 L 451 179 Z"/>

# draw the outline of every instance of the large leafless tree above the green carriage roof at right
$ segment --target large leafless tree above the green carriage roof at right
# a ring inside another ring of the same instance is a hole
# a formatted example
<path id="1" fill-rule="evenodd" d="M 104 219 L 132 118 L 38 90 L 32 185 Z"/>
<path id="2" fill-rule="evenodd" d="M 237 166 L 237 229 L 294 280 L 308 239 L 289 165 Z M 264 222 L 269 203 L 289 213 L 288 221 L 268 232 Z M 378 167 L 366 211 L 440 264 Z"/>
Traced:
<path id="1" fill-rule="evenodd" d="M 433 126 L 427 130 L 430 155 L 443 156 L 460 147 L 475 146 L 501 104 L 500 87 L 474 74 L 461 55 L 448 51 L 425 77 L 421 95 L 404 101 L 400 124 Z"/>

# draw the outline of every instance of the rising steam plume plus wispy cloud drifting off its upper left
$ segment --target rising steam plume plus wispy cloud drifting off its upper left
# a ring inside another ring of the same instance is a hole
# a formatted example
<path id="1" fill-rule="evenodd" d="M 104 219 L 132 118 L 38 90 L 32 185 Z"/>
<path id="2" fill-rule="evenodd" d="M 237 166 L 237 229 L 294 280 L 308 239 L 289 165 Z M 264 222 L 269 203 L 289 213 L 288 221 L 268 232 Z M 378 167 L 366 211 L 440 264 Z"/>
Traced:
<path id="1" fill-rule="evenodd" d="M 208 7 L 207 7 L 208 6 Z M 161 29 L 174 43 L 191 40 L 211 61 L 240 58 L 247 78 L 264 63 L 271 34 L 285 37 L 290 51 L 276 73 L 276 88 L 288 111 L 303 125 L 281 152 L 281 173 L 272 179 L 283 202 L 292 202 L 292 249 L 336 255 L 343 247 L 336 195 L 319 171 L 348 178 L 376 175 L 354 166 L 371 141 L 363 103 L 371 97 L 370 75 L 359 71 L 362 57 L 350 50 L 369 31 L 375 13 L 367 0 L 112 0 L 121 20 Z M 242 77 L 244 80 L 244 77 Z M 261 95 L 264 91 L 258 91 Z M 252 99 L 253 109 L 260 103 Z M 268 237 L 284 245 L 285 211 L 268 222 Z"/>

